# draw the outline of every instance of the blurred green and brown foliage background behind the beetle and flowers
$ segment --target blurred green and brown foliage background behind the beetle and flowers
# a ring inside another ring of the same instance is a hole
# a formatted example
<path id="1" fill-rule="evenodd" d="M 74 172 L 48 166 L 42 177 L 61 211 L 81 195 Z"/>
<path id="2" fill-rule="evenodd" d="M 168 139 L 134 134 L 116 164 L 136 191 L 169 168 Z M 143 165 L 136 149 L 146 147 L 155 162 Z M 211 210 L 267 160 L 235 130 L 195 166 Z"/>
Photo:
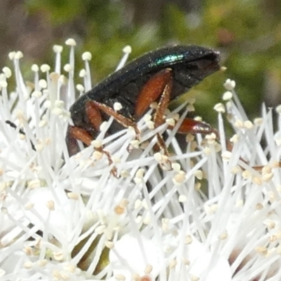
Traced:
<path id="1" fill-rule="evenodd" d="M 78 70 L 81 53 L 91 51 L 98 82 L 115 70 L 128 44 L 130 59 L 167 44 L 211 46 L 221 51 L 227 70 L 193 90 L 199 114 L 214 122 L 212 108 L 225 91 L 223 81 L 231 78 L 253 118 L 263 101 L 275 106 L 281 100 L 280 12 L 280 0 L 1 0 L 0 65 L 14 50 L 24 53 L 25 66 L 53 65 L 52 46 L 72 37 Z"/>

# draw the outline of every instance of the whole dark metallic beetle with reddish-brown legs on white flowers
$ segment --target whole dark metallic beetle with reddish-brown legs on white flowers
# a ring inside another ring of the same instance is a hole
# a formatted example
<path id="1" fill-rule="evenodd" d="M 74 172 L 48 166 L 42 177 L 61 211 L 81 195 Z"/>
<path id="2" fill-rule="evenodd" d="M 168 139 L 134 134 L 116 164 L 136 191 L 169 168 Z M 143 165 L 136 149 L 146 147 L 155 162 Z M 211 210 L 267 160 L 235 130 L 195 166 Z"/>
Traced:
<path id="1" fill-rule="evenodd" d="M 157 102 L 155 126 L 162 124 L 169 101 L 190 90 L 205 77 L 220 69 L 219 52 L 202 46 L 171 46 L 159 48 L 136 58 L 121 70 L 110 74 L 70 107 L 73 125 L 67 129 L 70 156 L 79 152 L 77 143 L 89 146 L 96 138 L 99 126 L 110 116 L 115 118 L 107 133 L 133 126 L 143 117 L 152 102 Z M 120 103 L 122 109 L 113 107 Z M 211 133 L 209 124 L 187 118 L 179 133 Z M 162 137 L 157 136 L 163 148 Z"/>

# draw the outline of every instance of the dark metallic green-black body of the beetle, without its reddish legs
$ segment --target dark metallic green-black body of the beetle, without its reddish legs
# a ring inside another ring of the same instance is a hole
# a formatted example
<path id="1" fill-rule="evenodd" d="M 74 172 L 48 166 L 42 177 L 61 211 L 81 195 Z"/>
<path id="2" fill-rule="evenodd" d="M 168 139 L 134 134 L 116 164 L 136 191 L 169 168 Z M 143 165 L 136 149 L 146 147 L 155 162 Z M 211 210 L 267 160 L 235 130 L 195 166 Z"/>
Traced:
<path id="1" fill-rule="evenodd" d="M 173 100 L 216 72 L 219 69 L 218 58 L 217 51 L 200 46 L 173 46 L 146 53 L 101 81 L 70 107 L 74 126 L 84 129 L 95 138 L 98 132 L 93 129 L 85 114 L 87 101 L 95 100 L 109 107 L 113 107 L 116 102 L 121 103 L 122 110 L 119 113 L 135 119 L 133 115 L 138 93 L 152 75 L 165 68 L 171 69 Z M 104 119 L 109 118 L 104 113 L 102 115 Z M 114 122 L 109 133 L 122 128 L 122 125 Z"/>

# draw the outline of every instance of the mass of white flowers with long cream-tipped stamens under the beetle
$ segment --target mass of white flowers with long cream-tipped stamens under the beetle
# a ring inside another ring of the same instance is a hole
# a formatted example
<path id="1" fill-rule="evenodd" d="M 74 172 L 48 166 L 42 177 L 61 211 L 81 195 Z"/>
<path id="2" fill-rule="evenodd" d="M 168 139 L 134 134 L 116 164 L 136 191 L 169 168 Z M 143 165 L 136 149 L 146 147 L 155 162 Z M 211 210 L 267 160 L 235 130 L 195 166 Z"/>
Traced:
<path id="1" fill-rule="evenodd" d="M 106 136 L 110 119 L 69 157 L 76 44 L 67 45 L 68 78 L 60 46 L 54 72 L 32 66 L 33 83 L 22 77 L 21 53 L 10 55 L 13 72 L 0 74 L 0 280 L 281 280 L 281 132 L 272 112 L 263 106 L 250 122 L 228 81 L 231 145 L 223 105 L 220 145 L 215 135 L 180 145 L 175 133 L 186 111 L 154 128 L 150 110 L 138 122 L 141 141 L 131 129 Z M 80 93 L 91 89 L 91 54 L 83 60 Z M 153 152 L 164 131 L 170 157 Z"/>

